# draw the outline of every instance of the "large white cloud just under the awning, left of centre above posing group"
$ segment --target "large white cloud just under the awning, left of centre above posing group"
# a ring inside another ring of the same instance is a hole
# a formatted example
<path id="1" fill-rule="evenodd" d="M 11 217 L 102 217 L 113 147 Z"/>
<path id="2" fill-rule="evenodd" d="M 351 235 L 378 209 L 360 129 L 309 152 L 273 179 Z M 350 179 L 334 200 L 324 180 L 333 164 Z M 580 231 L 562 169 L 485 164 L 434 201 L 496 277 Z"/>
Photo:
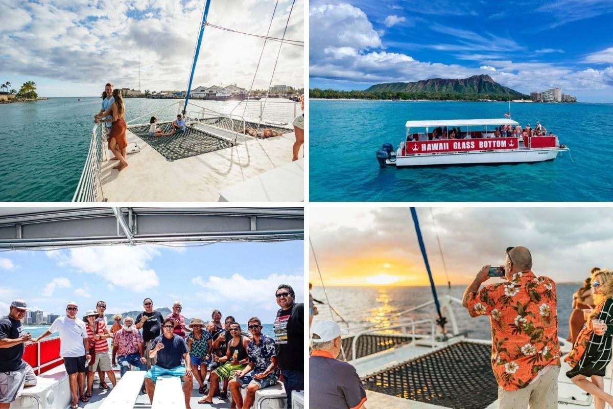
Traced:
<path id="1" fill-rule="evenodd" d="M 145 292 L 159 285 L 158 275 L 148 266 L 160 255 L 153 246 L 82 247 L 48 254 L 60 266 L 94 274 L 115 287 Z"/>

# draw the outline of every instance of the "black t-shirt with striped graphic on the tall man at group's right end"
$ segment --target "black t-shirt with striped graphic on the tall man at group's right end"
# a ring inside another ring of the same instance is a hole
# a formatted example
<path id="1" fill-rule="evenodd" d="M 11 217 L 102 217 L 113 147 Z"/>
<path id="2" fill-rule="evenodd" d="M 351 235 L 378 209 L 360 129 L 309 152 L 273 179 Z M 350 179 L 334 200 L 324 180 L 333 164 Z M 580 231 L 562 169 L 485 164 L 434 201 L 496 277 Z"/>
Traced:
<path id="1" fill-rule="evenodd" d="M 285 370 L 304 372 L 304 304 L 294 304 L 276 313 L 276 359 Z"/>

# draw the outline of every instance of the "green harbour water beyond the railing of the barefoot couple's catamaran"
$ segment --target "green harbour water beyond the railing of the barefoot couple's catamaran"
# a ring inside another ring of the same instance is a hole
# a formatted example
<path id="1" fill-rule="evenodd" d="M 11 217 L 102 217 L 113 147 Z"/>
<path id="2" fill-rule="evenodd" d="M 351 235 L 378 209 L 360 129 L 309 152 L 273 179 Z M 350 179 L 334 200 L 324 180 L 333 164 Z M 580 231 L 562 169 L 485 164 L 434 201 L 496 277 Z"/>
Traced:
<path id="1" fill-rule="evenodd" d="M 135 123 L 149 123 L 151 115 L 159 122 L 172 121 L 178 113 L 177 105 L 150 113 L 178 101 L 182 100 L 126 98 L 126 122 L 142 115 L 147 117 Z M 81 101 L 77 97 L 65 97 L 0 104 L 0 202 L 72 200 L 88 153 L 94 115 L 99 112 L 101 102 L 101 97 L 82 97 Z M 238 104 L 238 101 L 190 100 L 188 115 L 192 102 L 222 113 L 229 113 Z M 300 104 L 284 104 L 285 109 L 280 110 L 267 103 L 264 116 L 291 125 L 295 107 L 297 115 Z M 259 101 L 249 102 L 245 117 L 257 118 L 259 113 Z M 243 105 L 234 114 L 242 115 Z"/>

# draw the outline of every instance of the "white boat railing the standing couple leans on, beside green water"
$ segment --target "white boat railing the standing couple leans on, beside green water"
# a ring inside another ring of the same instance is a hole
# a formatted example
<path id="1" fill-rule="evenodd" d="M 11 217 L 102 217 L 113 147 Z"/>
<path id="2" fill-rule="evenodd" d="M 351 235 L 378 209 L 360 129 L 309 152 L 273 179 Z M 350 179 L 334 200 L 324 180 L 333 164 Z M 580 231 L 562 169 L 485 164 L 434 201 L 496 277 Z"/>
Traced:
<path id="1" fill-rule="evenodd" d="M 72 202 L 97 202 L 101 192 L 100 167 L 102 166 L 102 147 L 106 139 L 104 124 L 95 124 L 91 130 L 91 140 L 89 141 L 89 151 L 85 159 L 85 165 L 78 181 L 77 189 Z"/>

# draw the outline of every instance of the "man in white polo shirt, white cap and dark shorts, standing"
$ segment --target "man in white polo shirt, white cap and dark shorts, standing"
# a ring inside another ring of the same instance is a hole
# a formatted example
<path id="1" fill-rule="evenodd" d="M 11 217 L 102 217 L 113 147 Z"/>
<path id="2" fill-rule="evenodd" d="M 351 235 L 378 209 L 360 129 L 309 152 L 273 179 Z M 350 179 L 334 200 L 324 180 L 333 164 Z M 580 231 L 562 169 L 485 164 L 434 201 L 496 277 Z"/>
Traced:
<path id="1" fill-rule="evenodd" d="M 85 364 L 91 359 L 91 355 L 87 352 L 89 338 L 85 323 L 77 318 L 77 310 L 77 303 L 70 301 L 66 305 L 66 315 L 53 321 L 49 329 L 34 340 L 39 342 L 42 338 L 59 331 L 59 356 L 64 358 L 64 367 L 69 377 L 70 392 L 72 392 L 71 409 L 77 408 L 79 398 L 83 402 L 88 401 L 84 384 L 87 368 Z"/>

